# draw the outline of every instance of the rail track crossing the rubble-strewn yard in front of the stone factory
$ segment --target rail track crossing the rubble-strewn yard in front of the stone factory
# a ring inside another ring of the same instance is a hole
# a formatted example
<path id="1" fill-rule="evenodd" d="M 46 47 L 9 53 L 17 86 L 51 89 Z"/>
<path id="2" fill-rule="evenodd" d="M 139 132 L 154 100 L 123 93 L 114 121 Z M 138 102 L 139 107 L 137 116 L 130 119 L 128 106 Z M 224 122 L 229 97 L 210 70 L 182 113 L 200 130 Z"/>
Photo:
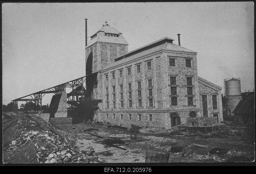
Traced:
<path id="1" fill-rule="evenodd" d="M 106 130 L 117 130 L 115 128 L 103 128 L 103 127 L 95 126 L 95 125 L 91 126 L 91 127 L 101 128 L 101 129 L 106 129 Z M 130 133 L 130 131 L 128 131 L 128 130 L 120 129 L 120 131 Z M 248 150 L 248 151 L 253 151 L 253 152 L 255 151 L 255 147 L 252 147 L 252 146 L 234 145 L 234 144 L 220 143 L 220 142 L 209 142 L 206 140 L 196 140 L 196 139 L 191 139 L 191 138 L 182 138 L 182 137 L 176 137 L 176 136 L 169 136 L 169 135 L 167 136 L 167 135 L 159 135 L 159 134 L 151 134 L 151 133 L 143 133 L 143 132 L 138 132 L 137 134 L 138 135 L 146 135 L 146 136 L 164 137 L 164 138 L 176 138 L 176 139 L 181 139 L 181 140 L 192 142 L 192 143 L 199 143 L 202 145 L 213 145 L 213 146 L 218 145 L 223 148 L 234 148 L 234 149 Z"/>

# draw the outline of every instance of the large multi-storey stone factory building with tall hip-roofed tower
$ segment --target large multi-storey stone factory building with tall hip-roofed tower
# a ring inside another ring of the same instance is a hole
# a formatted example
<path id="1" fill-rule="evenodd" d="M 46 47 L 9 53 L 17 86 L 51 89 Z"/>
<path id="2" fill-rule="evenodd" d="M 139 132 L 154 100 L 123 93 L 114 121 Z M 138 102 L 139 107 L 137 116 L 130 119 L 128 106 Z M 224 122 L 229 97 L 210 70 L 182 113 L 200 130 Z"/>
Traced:
<path id="1" fill-rule="evenodd" d="M 222 121 L 221 87 L 198 77 L 196 52 L 172 42 L 165 37 L 128 52 L 107 22 L 93 34 L 86 75 L 98 72 L 92 98 L 102 99 L 93 119 L 161 128 Z"/>

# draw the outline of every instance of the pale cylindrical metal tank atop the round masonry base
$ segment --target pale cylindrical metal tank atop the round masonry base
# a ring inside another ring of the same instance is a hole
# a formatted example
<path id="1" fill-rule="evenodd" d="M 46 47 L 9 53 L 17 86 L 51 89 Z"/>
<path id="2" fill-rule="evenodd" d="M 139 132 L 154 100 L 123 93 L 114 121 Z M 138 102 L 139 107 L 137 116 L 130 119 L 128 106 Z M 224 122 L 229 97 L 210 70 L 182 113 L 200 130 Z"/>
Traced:
<path id="1" fill-rule="evenodd" d="M 225 81 L 226 85 L 226 96 L 231 95 L 241 95 L 241 83 L 240 78 L 232 78 L 230 80 Z"/>

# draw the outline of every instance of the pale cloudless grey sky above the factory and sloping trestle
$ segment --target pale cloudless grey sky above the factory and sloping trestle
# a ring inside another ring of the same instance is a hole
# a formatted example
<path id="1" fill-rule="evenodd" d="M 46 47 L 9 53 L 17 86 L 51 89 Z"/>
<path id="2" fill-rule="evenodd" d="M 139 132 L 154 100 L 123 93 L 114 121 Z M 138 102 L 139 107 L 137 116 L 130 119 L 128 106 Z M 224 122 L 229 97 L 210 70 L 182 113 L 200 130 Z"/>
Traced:
<path id="1" fill-rule="evenodd" d="M 108 21 L 128 51 L 164 37 L 197 52 L 198 76 L 254 89 L 253 2 L 2 4 L 3 104 L 85 75 L 85 21 L 92 36 Z M 51 102 L 46 94 L 43 105 Z M 18 102 L 18 106 L 21 103 Z"/>

